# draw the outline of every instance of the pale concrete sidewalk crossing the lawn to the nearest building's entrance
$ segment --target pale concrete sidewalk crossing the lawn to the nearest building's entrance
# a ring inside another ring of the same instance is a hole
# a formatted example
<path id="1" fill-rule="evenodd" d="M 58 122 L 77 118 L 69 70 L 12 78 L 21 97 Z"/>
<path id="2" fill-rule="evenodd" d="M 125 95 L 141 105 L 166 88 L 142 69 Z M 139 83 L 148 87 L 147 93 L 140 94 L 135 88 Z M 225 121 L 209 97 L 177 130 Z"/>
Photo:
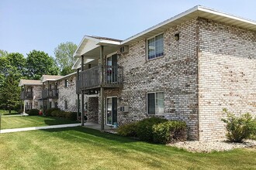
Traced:
<path id="1" fill-rule="evenodd" d="M 59 125 L 41 126 L 41 127 L 2 129 L 0 130 L 0 134 L 12 133 L 17 131 L 34 131 L 34 130 L 41 130 L 41 129 L 68 128 L 68 127 L 77 127 L 77 126 L 81 126 L 81 124 L 59 124 Z"/>

